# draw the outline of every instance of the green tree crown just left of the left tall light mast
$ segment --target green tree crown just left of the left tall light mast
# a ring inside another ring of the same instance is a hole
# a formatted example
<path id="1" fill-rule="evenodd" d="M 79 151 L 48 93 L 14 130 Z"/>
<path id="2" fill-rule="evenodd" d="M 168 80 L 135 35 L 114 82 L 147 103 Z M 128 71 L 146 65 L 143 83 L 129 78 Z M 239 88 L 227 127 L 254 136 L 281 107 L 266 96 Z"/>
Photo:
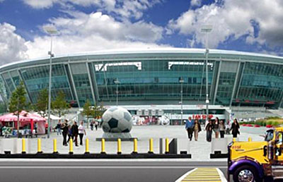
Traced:
<path id="1" fill-rule="evenodd" d="M 44 118 L 47 116 L 47 107 L 48 107 L 48 90 L 45 88 L 40 91 L 40 94 L 37 97 L 37 103 L 35 104 L 35 111 Z"/>

